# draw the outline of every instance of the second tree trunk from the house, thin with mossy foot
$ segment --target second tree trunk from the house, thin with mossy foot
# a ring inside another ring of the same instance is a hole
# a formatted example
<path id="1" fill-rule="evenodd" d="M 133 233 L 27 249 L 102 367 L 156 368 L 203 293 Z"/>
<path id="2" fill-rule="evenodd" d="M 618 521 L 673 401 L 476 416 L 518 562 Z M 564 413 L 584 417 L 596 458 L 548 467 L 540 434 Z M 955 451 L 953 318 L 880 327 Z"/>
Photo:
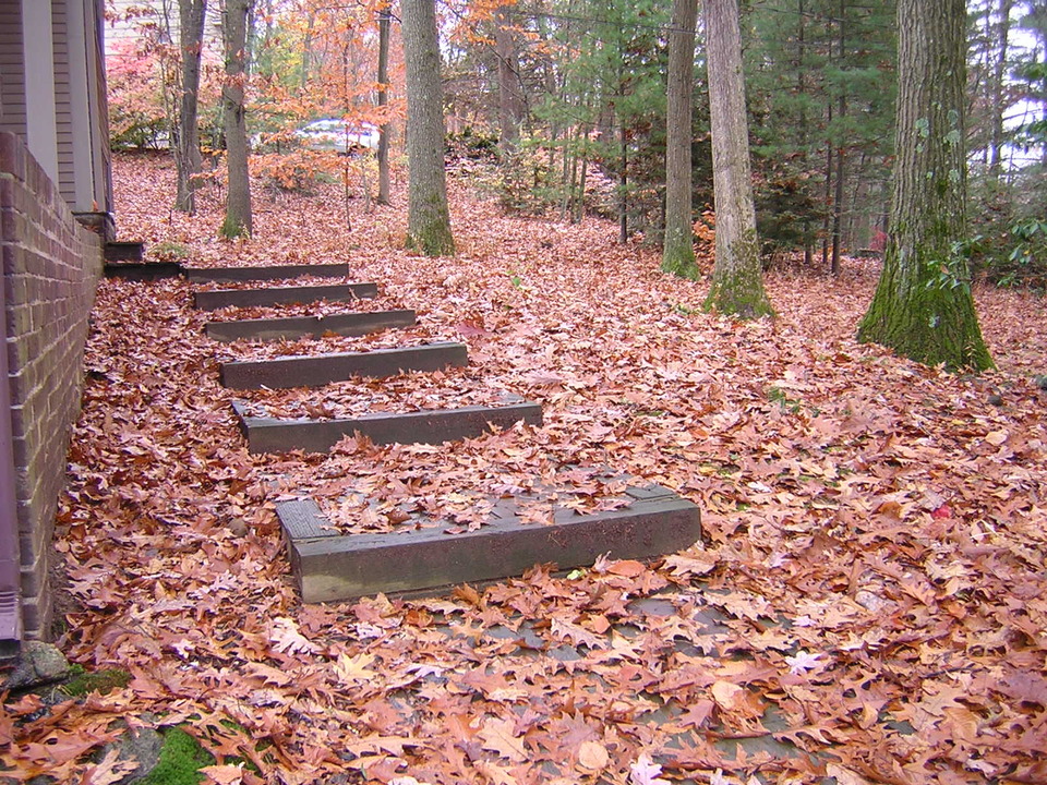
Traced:
<path id="1" fill-rule="evenodd" d="M 248 177 L 248 129 L 243 83 L 248 75 L 248 14 L 254 0 L 226 0 L 222 38 L 226 46 L 226 78 L 221 85 L 221 110 L 226 131 L 227 238 L 251 233 L 251 182 Z"/>

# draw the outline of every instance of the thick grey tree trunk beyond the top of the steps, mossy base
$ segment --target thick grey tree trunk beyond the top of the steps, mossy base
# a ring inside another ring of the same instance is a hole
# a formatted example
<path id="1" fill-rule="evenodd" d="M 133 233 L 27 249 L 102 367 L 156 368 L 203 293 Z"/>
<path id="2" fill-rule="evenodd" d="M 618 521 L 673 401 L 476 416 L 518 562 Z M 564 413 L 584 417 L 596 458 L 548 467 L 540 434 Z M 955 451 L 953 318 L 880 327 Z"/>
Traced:
<path id="1" fill-rule="evenodd" d="M 407 245 L 429 256 L 455 253 L 444 172 L 444 106 L 435 0 L 404 0 L 407 68 Z"/>

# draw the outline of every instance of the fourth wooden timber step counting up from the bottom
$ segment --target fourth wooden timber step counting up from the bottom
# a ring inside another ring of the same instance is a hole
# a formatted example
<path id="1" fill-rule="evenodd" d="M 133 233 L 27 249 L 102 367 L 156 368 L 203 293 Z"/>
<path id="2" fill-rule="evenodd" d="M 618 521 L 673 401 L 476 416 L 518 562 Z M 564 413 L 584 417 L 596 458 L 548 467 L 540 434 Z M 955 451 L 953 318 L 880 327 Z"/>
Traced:
<path id="1" fill-rule="evenodd" d="M 213 340 L 280 340 L 334 334 L 360 336 L 390 327 L 413 327 L 413 311 L 374 311 L 371 313 L 330 314 L 328 316 L 287 316 L 284 318 L 208 322 L 204 329 Z"/>

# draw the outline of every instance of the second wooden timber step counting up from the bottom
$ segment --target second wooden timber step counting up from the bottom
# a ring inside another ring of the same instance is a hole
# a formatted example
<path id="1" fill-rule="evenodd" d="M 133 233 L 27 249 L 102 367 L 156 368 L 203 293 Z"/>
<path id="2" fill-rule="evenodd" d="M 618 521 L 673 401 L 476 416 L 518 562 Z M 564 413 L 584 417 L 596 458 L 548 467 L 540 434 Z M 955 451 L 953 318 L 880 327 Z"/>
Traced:
<path id="1" fill-rule="evenodd" d="M 517 399 L 502 406 L 429 409 L 395 413 L 378 412 L 340 420 L 277 420 L 246 416 L 243 403 L 234 402 L 240 431 L 249 452 L 327 452 L 344 436 L 359 433 L 375 444 L 443 444 L 476 438 L 493 428 L 512 427 L 524 421 L 542 424 L 542 408 Z"/>

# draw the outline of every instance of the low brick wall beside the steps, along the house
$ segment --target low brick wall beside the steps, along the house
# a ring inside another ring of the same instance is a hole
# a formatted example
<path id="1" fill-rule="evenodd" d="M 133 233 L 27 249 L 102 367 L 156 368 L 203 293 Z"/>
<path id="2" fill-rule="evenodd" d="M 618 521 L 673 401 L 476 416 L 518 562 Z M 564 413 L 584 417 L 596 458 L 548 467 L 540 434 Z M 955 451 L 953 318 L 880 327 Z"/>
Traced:
<path id="1" fill-rule="evenodd" d="M 31 638 L 47 637 L 53 620 L 51 536 L 69 433 L 80 412 L 101 249 L 21 140 L 0 133 L 0 336 L 7 336 L 22 621 Z"/>

